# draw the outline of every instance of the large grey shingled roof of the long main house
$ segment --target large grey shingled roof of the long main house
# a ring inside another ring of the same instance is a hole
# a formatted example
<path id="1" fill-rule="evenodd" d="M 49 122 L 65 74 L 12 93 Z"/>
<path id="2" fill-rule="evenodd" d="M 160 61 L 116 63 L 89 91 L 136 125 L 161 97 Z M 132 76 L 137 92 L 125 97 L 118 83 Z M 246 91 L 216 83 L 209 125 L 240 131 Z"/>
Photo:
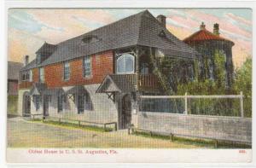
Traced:
<path id="1" fill-rule="evenodd" d="M 187 58 L 194 58 L 198 54 L 195 49 L 190 48 L 188 44 L 183 43 L 172 35 L 148 10 L 144 10 L 107 26 L 87 32 L 77 38 L 71 38 L 56 44 L 55 51 L 48 59 L 39 65 L 33 62 L 29 65 L 29 68 L 42 67 L 84 55 L 135 45 L 169 50 L 168 53 L 182 53 L 182 55 L 174 56 Z M 29 68 L 25 67 L 22 70 Z"/>

